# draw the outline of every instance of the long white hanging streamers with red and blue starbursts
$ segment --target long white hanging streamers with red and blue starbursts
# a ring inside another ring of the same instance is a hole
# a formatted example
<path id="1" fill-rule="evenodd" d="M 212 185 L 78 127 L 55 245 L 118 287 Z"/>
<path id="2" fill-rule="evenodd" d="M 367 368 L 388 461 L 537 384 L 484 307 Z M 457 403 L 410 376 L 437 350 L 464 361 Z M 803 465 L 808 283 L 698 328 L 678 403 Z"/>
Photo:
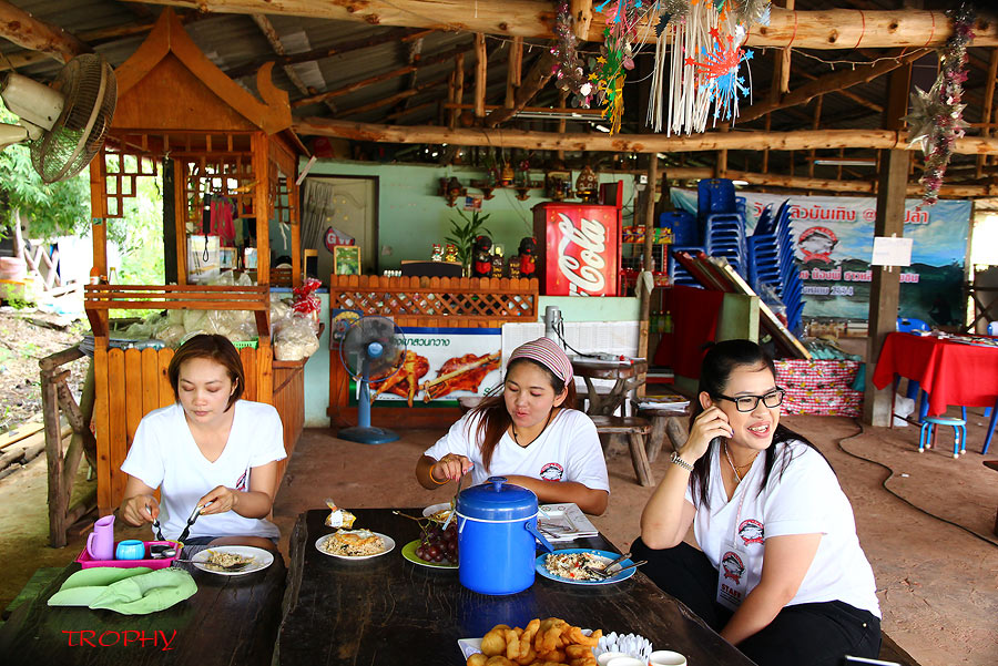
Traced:
<path id="1" fill-rule="evenodd" d="M 658 10 L 648 123 L 661 132 L 664 120 L 671 135 L 703 132 L 711 119 L 714 124 L 734 122 L 739 98 L 747 98 L 752 89 L 740 70 L 753 52 L 741 44 L 751 25 L 768 23 L 768 0 L 691 0 L 685 6 L 666 0 Z M 665 53 L 668 42 L 671 58 Z"/>

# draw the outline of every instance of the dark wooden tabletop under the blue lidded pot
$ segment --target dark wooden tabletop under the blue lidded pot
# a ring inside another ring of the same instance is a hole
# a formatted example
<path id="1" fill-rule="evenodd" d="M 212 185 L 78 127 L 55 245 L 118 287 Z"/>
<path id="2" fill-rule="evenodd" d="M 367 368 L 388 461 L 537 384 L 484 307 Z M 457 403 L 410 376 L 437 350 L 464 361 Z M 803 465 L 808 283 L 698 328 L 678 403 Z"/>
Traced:
<path id="1" fill-rule="evenodd" d="M 640 634 L 656 649 L 686 655 L 691 666 L 752 664 L 640 571 L 612 585 L 571 585 L 538 575 L 519 594 L 481 595 L 459 583 L 457 570 L 429 568 L 401 556 L 403 546 L 419 536 L 415 521 L 390 509 L 354 513 L 355 527 L 393 537 L 395 550 L 355 562 L 330 557 L 315 547 L 317 539 L 334 531 L 323 524 L 328 511 L 298 518 L 275 659 L 282 666 L 461 666 L 458 638 L 482 636 L 500 623 L 522 627 L 533 617 L 552 616 L 604 633 Z M 556 547 L 617 550 L 602 537 Z"/>

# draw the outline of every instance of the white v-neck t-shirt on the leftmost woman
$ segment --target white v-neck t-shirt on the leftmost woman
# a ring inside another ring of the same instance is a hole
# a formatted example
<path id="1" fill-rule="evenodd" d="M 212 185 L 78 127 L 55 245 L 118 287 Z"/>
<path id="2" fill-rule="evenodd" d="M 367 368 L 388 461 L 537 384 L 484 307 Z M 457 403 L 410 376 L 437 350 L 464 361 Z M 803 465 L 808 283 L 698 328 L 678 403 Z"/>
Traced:
<path id="1" fill-rule="evenodd" d="M 160 488 L 160 525 L 163 535 L 176 539 L 187 518 L 206 492 L 225 485 L 249 490 L 249 470 L 287 458 L 284 429 L 277 410 L 263 402 L 237 400 L 232 430 L 222 455 L 215 462 L 197 448 L 180 403 L 153 410 L 143 417 L 121 471 L 150 488 Z M 202 515 L 190 536 L 281 535 L 277 525 L 235 511 Z"/>

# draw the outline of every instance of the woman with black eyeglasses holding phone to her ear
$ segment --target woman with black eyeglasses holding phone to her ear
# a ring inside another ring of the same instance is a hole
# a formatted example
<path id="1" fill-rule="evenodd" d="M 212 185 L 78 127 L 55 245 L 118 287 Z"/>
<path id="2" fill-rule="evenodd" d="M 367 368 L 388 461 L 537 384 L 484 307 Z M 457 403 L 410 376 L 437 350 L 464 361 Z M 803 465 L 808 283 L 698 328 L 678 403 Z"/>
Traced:
<path id="1" fill-rule="evenodd" d="M 710 348 L 690 437 L 631 552 L 760 666 L 875 658 L 880 611 L 853 509 L 825 457 L 780 424 L 775 378 L 755 342 Z M 701 550 L 683 541 L 691 525 Z"/>

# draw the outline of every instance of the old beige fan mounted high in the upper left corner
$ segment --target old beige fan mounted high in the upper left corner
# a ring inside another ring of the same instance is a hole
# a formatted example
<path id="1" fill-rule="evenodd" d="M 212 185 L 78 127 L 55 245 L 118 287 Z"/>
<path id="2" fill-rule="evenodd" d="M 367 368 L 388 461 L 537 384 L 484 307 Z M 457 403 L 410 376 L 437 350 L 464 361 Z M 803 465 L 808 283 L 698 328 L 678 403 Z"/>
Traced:
<path id="1" fill-rule="evenodd" d="M 55 183 L 83 171 L 101 150 L 118 83 L 101 55 L 84 53 L 70 60 L 51 85 L 4 74 L 0 98 L 20 117 L 20 124 L 0 124 L 0 150 L 27 143 L 34 171 L 45 183 Z"/>

